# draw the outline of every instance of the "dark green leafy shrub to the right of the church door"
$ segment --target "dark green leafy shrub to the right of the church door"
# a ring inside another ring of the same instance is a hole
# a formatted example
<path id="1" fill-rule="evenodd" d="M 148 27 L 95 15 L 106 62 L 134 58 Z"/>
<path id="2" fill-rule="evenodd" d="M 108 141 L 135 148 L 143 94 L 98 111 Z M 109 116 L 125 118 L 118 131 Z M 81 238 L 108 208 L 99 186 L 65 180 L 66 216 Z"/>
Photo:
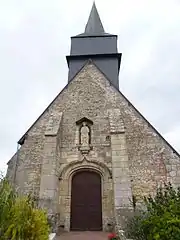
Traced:
<path id="1" fill-rule="evenodd" d="M 146 211 L 141 211 L 128 225 L 129 236 L 135 240 L 180 239 L 180 188 L 165 184 L 156 196 L 144 199 Z"/>

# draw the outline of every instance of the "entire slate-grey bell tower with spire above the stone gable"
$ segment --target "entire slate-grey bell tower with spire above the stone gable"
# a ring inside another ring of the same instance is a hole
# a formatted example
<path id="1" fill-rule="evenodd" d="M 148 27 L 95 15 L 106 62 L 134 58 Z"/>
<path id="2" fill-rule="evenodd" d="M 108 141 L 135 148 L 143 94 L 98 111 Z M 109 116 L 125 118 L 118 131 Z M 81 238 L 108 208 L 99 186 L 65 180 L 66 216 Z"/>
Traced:
<path id="1" fill-rule="evenodd" d="M 69 82 L 91 59 L 107 76 L 112 85 L 119 88 L 121 53 L 118 53 L 117 49 L 117 35 L 105 32 L 95 2 L 85 31 L 71 37 L 70 55 L 66 59 L 69 67 Z"/>

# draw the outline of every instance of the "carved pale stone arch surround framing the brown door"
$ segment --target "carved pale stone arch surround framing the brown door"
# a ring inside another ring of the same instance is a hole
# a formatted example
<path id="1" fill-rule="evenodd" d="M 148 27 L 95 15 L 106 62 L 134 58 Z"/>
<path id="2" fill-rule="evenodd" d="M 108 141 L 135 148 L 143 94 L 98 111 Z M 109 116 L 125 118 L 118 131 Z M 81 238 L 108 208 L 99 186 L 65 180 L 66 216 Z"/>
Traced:
<path id="1" fill-rule="evenodd" d="M 61 224 L 65 230 L 70 229 L 70 206 L 71 206 L 71 184 L 72 177 L 78 171 L 94 171 L 101 176 L 102 188 L 102 213 L 103 213 L 103 229 L 107 227 L 109 219 L 112 215 L 113 200 L 113 183 L 112 172 L 105 163 L 98 161 L 90 161 L 86 157 L 79 161 L 73 161 L 64 166 L 59 174 L 59 209 L 61 215 Z"/>

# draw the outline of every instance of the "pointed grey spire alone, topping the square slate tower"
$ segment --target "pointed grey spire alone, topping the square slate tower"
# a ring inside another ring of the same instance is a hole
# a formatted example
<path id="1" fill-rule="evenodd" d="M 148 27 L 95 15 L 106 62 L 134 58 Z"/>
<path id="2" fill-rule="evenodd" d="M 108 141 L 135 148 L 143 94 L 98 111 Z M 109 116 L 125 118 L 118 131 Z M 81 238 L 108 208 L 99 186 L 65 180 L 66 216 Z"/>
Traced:
<path id="1" fill-rule="evenodd" d="M 95 2 L 93 3 L 84 33 L 87 35 L 101 35 L 105 33 Z"/>

